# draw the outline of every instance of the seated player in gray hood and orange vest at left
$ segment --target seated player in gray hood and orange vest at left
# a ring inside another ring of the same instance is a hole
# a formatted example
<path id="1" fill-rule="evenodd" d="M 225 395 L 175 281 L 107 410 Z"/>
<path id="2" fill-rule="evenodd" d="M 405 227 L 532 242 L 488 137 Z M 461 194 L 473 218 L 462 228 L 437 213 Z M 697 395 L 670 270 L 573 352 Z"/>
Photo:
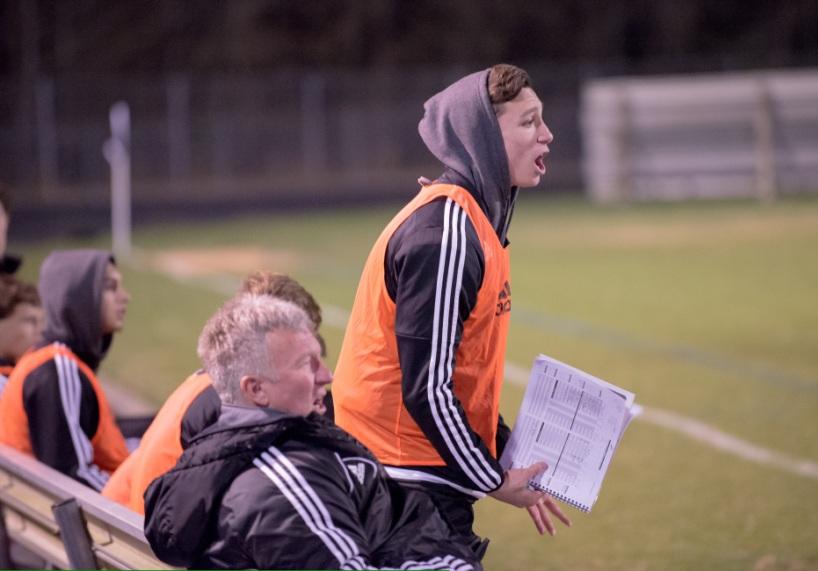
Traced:
<path id="1" fill-rule="evenodd" d="M 109 252 L 52 252 L 40 268 L 43 341 L 0 398 L 0 442 L 101 490 L 128 455 L 96 377 L 130 296 Z"/>

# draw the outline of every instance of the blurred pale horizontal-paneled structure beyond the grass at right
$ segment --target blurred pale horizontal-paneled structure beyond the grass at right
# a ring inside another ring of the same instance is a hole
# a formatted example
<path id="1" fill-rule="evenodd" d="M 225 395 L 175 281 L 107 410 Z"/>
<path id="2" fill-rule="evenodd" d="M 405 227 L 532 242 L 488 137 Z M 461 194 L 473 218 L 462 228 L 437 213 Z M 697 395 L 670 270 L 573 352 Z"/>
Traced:
<path id="1" fill-rule="evenodd" d="M 594 80 L 581 109 L 598 201 L 818 189 L 818 71 Z"/>

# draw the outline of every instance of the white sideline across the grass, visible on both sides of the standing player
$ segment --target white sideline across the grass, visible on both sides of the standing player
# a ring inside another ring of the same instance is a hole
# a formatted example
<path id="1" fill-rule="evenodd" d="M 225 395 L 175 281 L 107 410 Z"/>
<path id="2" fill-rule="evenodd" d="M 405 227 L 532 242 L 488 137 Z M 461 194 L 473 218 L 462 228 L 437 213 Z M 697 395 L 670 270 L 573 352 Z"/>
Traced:
<path id="1" fill-rule="evenodd" d="M 210 289 L 217 293 L 230 295 L 235 292 L 235 288 L 231 289 L 224 281 L 219 282 L 214 280 L 211 282 L 201 277 L 192 279 L 172 274 L 166 275 L 178 282 Z M 321 307 L 324 324 L 340 329 L 341 331 L 346 329 L 347 321 L 349 320 L 349 311 L 329 304 L 324 304 Z M 505 372 L 506 379 L 512 384 L 521 387 L 525 387 L 528 384 L 528 369 L 507 362 Z M 793 458 L 792 456 L 758 446 L 694 418 L 668 410 L 645 406 L 643 407 L 642 414 L 637 416 L 636 420 L 672 430 L 711 448 L 721 450 L 722 452 L 750 462 L 755 462 L 756 464 L 770 466 L 784 472 L 818 480 L 818 463 L 812 462 L 811 460 Z"/>

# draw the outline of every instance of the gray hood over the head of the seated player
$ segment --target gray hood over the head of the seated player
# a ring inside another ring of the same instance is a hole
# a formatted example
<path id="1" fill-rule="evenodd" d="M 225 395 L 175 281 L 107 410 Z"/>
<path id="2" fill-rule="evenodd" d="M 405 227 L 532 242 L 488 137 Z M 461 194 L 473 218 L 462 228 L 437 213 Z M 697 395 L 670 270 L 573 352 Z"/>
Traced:
<path id="1" fill-rule="evenodd" d="M 115 263 L 114 257 L 104 250 L 57 250 L 40 267 L 43 339 L 65 343 L 94 370 L 113 337 L 102 334 L 102 291 L 109 263 Z"/>

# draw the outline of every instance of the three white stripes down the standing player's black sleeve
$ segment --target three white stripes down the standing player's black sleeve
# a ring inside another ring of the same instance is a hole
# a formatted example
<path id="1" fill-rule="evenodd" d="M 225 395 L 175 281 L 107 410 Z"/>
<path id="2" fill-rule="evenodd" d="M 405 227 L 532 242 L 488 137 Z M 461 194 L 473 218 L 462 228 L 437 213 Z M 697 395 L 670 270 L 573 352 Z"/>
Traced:
<path id="1" fill-rule="evenodd" d="M 485 491 L 499 486 L 502 477 L 491 467 L 472 441 L 471 432 L 466 428 L 463 417 L 454 404 L 451 383 L 465 259 L 466 214 L 458 204 L 448 199 L 444 209 L 443 237 L 435 286 L 432 353 L 426 391 L 432 416 L 446 446 L 460 469 L 475 483 L 477 489 Z"/>

